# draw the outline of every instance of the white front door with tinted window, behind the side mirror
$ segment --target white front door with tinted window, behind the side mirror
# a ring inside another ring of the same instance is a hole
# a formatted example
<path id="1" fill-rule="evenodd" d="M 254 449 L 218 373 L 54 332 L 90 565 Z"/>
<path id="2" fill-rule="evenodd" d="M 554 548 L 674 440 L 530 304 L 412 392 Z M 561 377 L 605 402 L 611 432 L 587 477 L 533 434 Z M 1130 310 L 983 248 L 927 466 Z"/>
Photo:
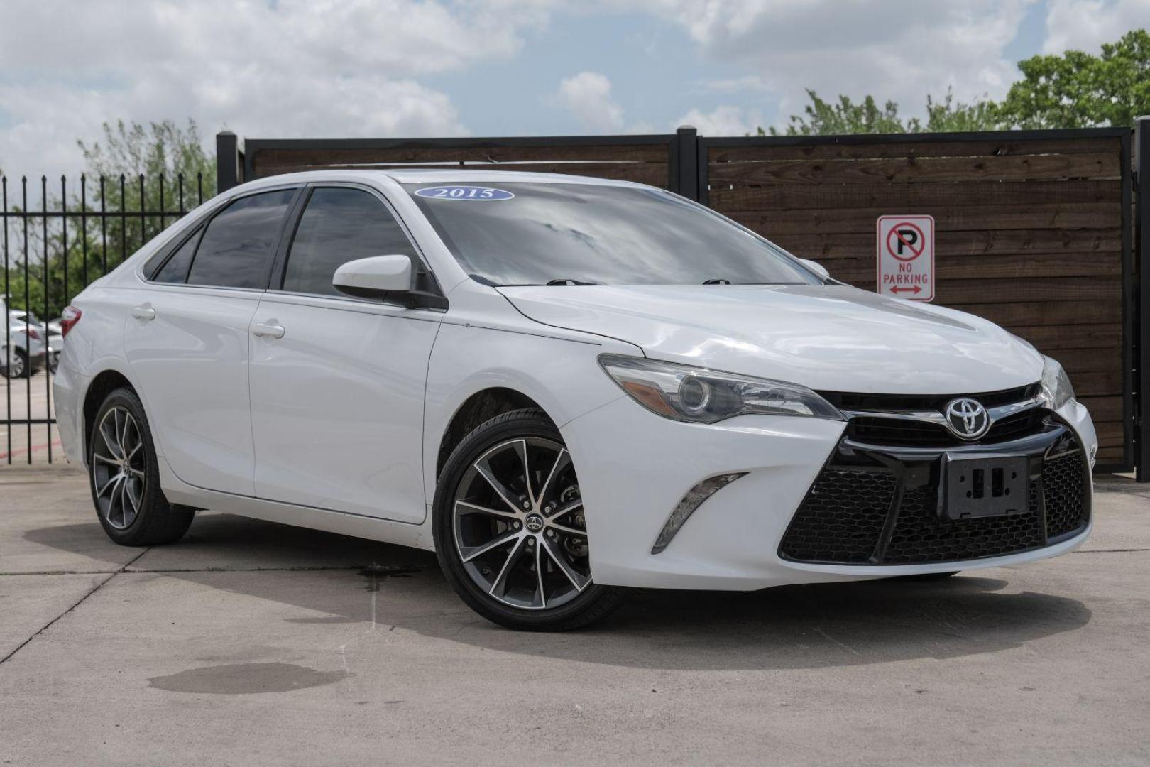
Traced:
<path id="1" fill-rule="evenodd" d="M 262 329 L 251 351 L 255 493 L 420 522 L 423 389 L 442 312 L 332 287 L 347 261 L 419 253 L 375 191 L 307 194 L 253 324 Z"/>

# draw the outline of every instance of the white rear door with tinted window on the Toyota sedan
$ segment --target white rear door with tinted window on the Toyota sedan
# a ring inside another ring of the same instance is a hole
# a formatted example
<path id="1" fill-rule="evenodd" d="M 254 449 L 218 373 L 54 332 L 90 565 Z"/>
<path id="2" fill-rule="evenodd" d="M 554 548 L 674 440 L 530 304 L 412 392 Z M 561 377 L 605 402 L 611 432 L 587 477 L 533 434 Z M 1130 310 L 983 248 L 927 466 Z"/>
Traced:
<path id="1" fill-rule="evenodd" d="M 174 244 L 126 304 L 128 362 L 160 452 L 187 484 L 254 494 L 250 325 L 299 193 L 228 204 Z"/>

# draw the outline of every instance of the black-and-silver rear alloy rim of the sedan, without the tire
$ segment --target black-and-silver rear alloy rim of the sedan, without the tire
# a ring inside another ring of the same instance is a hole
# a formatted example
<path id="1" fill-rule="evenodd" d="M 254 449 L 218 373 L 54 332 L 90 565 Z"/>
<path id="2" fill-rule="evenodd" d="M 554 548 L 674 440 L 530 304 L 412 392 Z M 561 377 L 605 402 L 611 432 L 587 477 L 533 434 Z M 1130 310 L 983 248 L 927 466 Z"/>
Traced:
<path id="1" fill-rule="evenodd" d="M 112 407 L 92 439 L 97 511 L 113 528 L 124 530 L 140 513 L 147 482 L 139 424 L 126 408 Z"/>

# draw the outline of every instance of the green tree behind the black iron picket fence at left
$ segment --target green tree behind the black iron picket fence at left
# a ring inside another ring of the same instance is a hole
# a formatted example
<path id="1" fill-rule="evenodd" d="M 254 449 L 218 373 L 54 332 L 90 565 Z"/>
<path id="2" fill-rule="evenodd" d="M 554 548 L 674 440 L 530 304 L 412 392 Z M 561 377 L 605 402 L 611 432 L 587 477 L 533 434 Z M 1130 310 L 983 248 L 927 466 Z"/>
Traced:
<path id="1" fill-rule="evenodd" d="M 8 290 L 14 307 L 31 308 L 46 319 L 59 316 L 67 301 L 87 283 L 114 269 L 138 247 L 179 218 L 181 178 L 183 207 L 194 208 L 215 194 L 215 158 L 204 152 L 199 130 L 189 121 L 105 123 L 103 135 L 91 144 L 77 141 L 84 155 L 84 201 L 89 213 L 110 213 L 86 222 L 69 215 L 67 223 L 49 218 L 47 237 L 39 218 L 30 221 L 26 240 L 23 225 L 9 218 Z M 29 186 L 39 186 L 29 179 Z M 80 178 L 68 179 L 67 195 L 49 197 L 47 209 L 70 214 L 80 210 Z M 101 184 L 102 182 L 102 184 Z M 59 179 L 48 179 L 49 195 Z M 9 181 L 9 197 L 12 181 Z M 162 202 L 162 205 L 161 205 Z M 140 213 L 145 215 L 139 215 Z M 32 213 L 36 213 L 33 206 Z M 122 214 L 122 215 L 117 215 Z M 28 253 L 29 284 L 24 290 Z M 13 263 L 13 261 L 15 261 Z M 45 263 L 47 275 L 45 277 Z M 48 289 L 45 291 L 45 284 Z M 0 286 L 2 289 L 2 286 Z M 45 300 L 47 293 L 47 300 Z"/>

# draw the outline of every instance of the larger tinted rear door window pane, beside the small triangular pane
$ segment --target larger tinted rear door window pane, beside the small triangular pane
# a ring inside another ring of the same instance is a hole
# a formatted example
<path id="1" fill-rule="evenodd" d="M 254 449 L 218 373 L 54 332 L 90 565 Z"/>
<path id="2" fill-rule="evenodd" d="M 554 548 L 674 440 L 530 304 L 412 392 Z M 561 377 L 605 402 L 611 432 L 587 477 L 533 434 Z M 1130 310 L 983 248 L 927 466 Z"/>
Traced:
<path id="1" fill-rule="evenodd" d="M 296 190 L 244 197 L 208 224 L 187 283 L 223 287 L 264 286 L 271 248 Z"/>

